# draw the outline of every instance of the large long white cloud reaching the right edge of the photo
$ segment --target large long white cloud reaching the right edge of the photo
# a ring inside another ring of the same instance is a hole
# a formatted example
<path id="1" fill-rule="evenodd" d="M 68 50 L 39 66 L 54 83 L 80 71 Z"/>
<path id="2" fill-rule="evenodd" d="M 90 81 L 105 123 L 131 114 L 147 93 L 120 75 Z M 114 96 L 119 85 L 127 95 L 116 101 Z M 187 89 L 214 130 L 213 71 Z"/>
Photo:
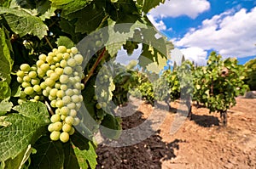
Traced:
<path id="1" fill-rule="evenodd" d="M 227 11 L 204 20 L 198 28 L 190 31 L 174 44 L 183 48 L 217 50 L 224 57 L 247 57 L 256 54 L 256 7 Z"/>

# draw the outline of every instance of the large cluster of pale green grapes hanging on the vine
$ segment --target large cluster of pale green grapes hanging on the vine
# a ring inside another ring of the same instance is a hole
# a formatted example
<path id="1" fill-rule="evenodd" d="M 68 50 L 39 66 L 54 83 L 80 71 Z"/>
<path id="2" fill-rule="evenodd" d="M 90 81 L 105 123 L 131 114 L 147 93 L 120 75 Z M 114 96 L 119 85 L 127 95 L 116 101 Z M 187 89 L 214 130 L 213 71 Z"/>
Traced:
<path id="1" fill-rule="evenodd" d="M 81 79 L 84 78 L 81 66 L 83 59 L 77 48 L 67 49 L 60 46 L 54 48 L 48 55 L 40 54 L 36 65 L 32 66 L 35 68 L 23 64 L 17 72 L 17 80 L 22 82 L 24 95 L 30 95 L 31 98 L 33 93 L 41 94 L 42 97 L 33 100 L 38 101 L 46 97 L 50 101 L 50 106 L 55 108 L 55 114 L 50 117 L 51 124 L 48 127 L 52 140 L 60 139 L 66 143 L 69 135 L 74 133 L 73 126 L 79 124 L 77 112 L 83 102 L 81 90 L 84 88 L 84 84 L 81 83 Z M 38 81 L 32 82 L 33 78 Z M 30 84 L 26 86 L 23 85 L 24 82 Z"/>

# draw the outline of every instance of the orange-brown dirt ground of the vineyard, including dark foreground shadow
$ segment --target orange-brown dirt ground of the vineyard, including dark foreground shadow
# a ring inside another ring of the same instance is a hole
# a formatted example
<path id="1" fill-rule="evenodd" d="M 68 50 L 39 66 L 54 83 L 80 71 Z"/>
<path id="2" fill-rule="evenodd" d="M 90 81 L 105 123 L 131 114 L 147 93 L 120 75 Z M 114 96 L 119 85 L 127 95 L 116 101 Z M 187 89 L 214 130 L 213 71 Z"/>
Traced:
<path id="1" fill-rule="evenodd" d="M 256 168 L 256 99 L 236 101 L 236 106 L 228 111 L 227 127 L 223 127 L 218 113 L 209 114 L 207 109 L 193 105 L 192 120 L 185 120 L 177 132 L 171 134 L 179 102 L 172 103 L 173 109 L 169 112 L 135 100 L 132 104 L 137 104 L 136 112 L 122 118 L 123 129 L 139 126 L 156 111 L 159 118 L 151 119 L 149 129 L 144 131 L 156 132 L 130 146 L 99 144 L 97 168 Z M 163 119 L 156 128 L 157 121 Z"/>

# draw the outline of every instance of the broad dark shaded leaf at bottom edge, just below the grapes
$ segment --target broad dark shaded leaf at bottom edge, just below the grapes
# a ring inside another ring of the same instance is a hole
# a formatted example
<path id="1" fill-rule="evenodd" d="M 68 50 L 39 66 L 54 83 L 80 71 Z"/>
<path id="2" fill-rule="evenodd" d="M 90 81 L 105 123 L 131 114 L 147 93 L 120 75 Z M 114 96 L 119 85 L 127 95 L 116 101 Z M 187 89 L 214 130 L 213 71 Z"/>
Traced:
<path id="1" fill-rule="evenodd" d="M 31 155 L 32 163 L 29 168 L 62 168 L 65 157 L 61 141 L 52 141 L 49 135 L 43 136 L 38 139 L 34 149 L 37 149 L 37 153 Z"/>

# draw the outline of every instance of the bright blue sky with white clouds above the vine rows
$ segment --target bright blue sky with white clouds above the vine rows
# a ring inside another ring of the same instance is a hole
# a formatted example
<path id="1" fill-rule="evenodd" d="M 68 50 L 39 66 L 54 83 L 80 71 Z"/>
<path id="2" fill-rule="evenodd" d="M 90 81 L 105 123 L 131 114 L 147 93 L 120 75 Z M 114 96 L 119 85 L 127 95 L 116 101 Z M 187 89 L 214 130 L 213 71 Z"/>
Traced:
<path id="1" fill-rule="evenodd" d="M 166 0 L 148 18 L 186 59 L 199 65 L 212 50 L 236 57 L 240 64 L 256 57 L 254 0 Z"/>

